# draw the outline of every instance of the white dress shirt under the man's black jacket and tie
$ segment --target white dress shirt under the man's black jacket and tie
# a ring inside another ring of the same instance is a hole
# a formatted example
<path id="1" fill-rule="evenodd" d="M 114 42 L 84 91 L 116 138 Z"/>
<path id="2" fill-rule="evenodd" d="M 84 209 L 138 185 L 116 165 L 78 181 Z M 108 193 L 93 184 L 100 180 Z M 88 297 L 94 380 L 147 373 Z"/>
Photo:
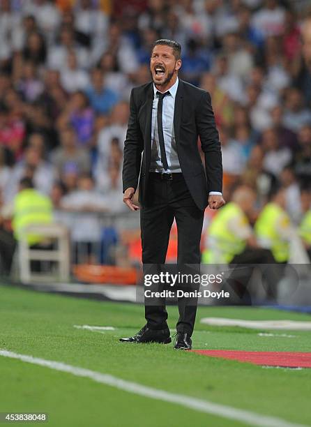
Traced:
<path id="1" fill-rule="evenodd" d="M 169 95 L 163 98 L 162 110 L 162 127 L 165 145 L 165 153 L 167 157 L 168 169 L 165 170 L 161 161 L 160 143 L 158 137 L 158 89 L 153 84 L 153 105 L 151 118 L 151 163 L 149 172 L 166 172 L 168 174 L 181 173 L 181 165 L 179 164 L 179 156 L 176 149 L 176 140 L 174 135 L 174 109 L 175 98 L 179 86 L 179 79 L 167 91 Z M 210 191 L 210 195 L 221 195 L 218 191 Z"/>

